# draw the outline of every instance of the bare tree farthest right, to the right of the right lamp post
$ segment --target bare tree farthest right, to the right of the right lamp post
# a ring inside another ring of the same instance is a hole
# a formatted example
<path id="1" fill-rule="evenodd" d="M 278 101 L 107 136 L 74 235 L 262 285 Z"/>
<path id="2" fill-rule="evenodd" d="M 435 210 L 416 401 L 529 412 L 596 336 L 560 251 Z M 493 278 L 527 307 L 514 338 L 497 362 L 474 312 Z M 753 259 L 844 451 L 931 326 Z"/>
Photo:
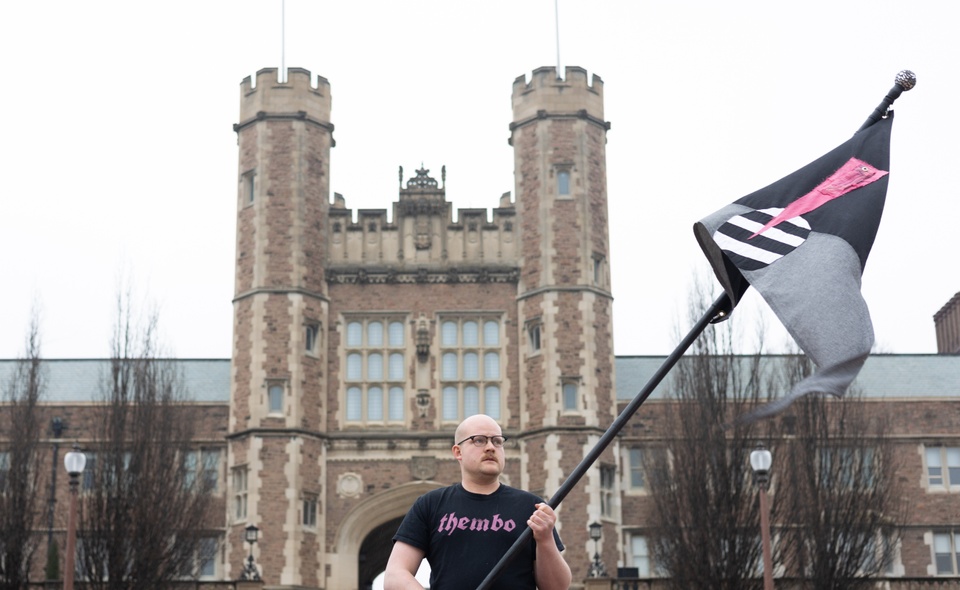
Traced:
<path id="1" fill-rule="evenodd" d="M 809 374 L 798 357 L 790 383 Z M 894 523 L 905 522 L 888 420 L 871 416 L 856 388 L 842 400 L 807 396 L 782 420 L 776 502 L 784 565 L 817 590 L 870 587 L 890 566 Z"/>

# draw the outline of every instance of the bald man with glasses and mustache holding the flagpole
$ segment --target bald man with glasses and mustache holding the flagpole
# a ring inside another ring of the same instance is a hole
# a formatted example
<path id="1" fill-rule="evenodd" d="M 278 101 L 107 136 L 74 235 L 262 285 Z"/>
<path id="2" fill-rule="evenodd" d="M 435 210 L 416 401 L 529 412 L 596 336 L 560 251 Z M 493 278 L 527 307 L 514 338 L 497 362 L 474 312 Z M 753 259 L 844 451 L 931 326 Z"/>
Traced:
<path id="1" fill-rule="evenodd" d="M 506 437 L 477 414 L 460 423 L 453 457 L 459 484 L 420 496 L 394 535 L 384 590 L 423 590 L 414 574 L 430 563 L 431 590 L 475 590 L 525 527 L 533 540 L 504 568 L 495 590 L 566 590 L 570 566 L 554 530 L 557 515 L 537 496 L 500 483 Z"/>

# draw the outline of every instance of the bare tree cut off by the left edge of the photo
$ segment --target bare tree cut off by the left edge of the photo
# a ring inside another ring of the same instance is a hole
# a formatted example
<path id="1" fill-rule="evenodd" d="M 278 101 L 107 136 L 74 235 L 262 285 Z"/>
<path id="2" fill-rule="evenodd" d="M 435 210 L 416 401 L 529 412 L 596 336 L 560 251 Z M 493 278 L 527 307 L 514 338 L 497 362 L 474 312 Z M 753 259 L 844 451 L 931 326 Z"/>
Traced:
<path id="1" fill-rule="evenodd" d="M 28 328 L 25 355 L 3 384 L 3 430 L 0 448 L 0 589 L 27 588 L 39 538 L 42 490 L 40 415 L 44 390 L 40 327 L 36 308 Z"/>

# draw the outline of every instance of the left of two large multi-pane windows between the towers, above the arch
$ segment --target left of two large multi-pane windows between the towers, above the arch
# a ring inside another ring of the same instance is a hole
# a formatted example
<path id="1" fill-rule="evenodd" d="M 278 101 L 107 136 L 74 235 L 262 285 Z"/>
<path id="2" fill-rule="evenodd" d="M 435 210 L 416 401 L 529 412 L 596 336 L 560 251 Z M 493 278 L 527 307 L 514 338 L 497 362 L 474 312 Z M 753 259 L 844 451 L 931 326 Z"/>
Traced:
<path id="1" fill-rule="evenodd" d="M 406 407 L 406 330 L 400 318 L 347 322 L 346 421 L 402 422 Z"/>

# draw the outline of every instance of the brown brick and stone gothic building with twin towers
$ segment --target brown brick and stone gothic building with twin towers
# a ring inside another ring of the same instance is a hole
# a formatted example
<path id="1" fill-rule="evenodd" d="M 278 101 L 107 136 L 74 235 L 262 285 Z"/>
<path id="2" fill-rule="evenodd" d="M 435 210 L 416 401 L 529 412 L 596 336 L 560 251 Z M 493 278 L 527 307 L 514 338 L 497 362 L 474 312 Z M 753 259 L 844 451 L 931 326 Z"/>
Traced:
<path id="1" fill-rule="evenodd" d="M 237 579 L 252 550 L 270 588 L 366 589 L 414 500 L 458 480 L 450 447 L 464 417 L 497 418 L 510 438 L 504 480 L 549 498 L 663 360 L 613 354 L 603 82 L 576 67 L 515 80 L 513 192 L 455 214 L 443 169 L 401 169 L 390 215 L 330 198 L 325 79 L 290 69 L 278 82 L 265 69 L 240 90 L 233 354 L 178 361 L 223 514 L 204 579 Z M 12 366 L 0 361 L 0 378 Z M 43 419 L 66 425 L 44 441 L 48 469 L 66 443 L 89 440 L 106 366 L 47 363 Z M 905 477 L 930 507 L 905 523 L 896 575 L 946 580 L 935 545 L 960 535 L 960 364 L 872 358 L 860 383 L 902 417 Z M 665 403 L 655 394 L 560 507 L 575 588 L 595 552 L 611 574 L 644 573 L 647 499 L 631 485 L 631 451 Z M 931 483 L 933 448 L 956 484 Z M 64 533 L 65 479 L 46 484 L 51 536 Z"/>

